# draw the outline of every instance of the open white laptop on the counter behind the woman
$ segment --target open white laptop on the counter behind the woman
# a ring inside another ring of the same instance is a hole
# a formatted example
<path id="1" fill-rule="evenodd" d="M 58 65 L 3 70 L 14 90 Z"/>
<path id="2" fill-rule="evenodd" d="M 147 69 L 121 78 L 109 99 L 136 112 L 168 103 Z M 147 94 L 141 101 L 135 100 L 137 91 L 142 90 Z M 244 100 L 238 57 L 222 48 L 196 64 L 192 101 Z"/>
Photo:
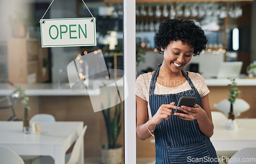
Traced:
<path id="1" fill-rule="evenodd" d="M 217 79 L 239 78 L 242 65 L 242 61 L 222 62 L 219 67 Z"/>

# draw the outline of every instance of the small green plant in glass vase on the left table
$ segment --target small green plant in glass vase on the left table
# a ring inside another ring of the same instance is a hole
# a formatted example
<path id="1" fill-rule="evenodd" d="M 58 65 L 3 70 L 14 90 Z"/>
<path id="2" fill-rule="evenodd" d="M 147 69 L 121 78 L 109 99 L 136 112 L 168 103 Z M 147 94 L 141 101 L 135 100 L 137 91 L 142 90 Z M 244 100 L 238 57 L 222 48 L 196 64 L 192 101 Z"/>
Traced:
<path id="1" fill-rule="evenodd" d="M 28 110 L 30 110 L 30 107 L 28 106 L 29 97 L 25 95 L 25 89 L 21 88 L 20 86 L 17 86 L 17 91 L 19 92 L 18 98 L 22 98 L 22 104 L 25 109 L 23 118 L 23 132 L 27 134 L 31 132 L 28 115 Z"/>

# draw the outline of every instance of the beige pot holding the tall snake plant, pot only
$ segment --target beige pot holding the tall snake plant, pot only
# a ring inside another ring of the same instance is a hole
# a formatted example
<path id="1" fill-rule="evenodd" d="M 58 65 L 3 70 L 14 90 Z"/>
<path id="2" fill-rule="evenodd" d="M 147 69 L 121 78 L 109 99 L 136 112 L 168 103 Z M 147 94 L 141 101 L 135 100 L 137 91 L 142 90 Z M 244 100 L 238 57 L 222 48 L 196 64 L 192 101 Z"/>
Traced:
<path id="1" fill-rule="evenodd" d="M 108 149 L 107 144 L 101 147 L 101 163 L 102 164 L 119 164 L 122 162 L 123 147 L 117 145 L 117 148 Z"/>

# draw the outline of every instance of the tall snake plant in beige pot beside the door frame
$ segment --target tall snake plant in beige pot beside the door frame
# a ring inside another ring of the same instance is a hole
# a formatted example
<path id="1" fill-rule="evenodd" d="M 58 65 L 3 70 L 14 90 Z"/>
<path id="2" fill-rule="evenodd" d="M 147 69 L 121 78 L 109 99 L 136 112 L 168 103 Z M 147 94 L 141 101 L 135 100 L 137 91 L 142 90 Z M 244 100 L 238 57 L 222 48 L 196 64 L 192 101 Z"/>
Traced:
<path id="1" fill-rule="evenodd" d="M 107 89 L 107 92 L 108 103 L 110 106 L 110 91 Z M 121 104 L 122 103 L 119 103 L 106 109 L 101 104 L 102 114 L 104 117 L 106 132 L 108 136 L 108 143 L 102 145 L 101 147 L 101 163 L 103 164 L 118 164 L 122 161 L 122 145 L 117 143 L 117 138 L 120 134 L 122 124 L 120 122 Z"/>

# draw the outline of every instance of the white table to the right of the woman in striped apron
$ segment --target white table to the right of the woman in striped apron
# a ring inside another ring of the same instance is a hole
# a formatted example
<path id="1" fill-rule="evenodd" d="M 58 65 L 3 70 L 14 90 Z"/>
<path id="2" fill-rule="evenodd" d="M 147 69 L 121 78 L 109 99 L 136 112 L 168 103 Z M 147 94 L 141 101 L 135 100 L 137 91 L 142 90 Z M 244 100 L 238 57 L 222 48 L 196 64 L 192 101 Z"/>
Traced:
<path id="1" fill-rule="evenodd" d="M 237 128 L 226 129 L 227 119 L 212 114 L 214 135 L 210 137 L 216 151 L 238 151 L 256 147 L 256 119 L 235 119 Z"/>

